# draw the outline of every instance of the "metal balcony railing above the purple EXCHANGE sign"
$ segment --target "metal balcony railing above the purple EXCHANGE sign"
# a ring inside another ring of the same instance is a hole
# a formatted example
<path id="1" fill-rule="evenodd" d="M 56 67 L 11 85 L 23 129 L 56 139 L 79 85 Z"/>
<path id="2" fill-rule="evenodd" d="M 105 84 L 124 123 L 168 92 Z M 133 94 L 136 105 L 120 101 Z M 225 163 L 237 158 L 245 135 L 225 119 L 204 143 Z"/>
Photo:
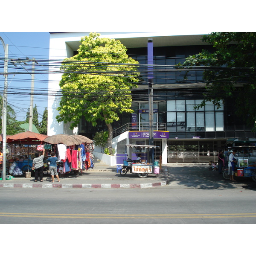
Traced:
<path id="1" fill-rule="evenodd" d="M 153 123 L 154 131 L 166 131 L 166 123 Z M 124 133 L 125 131 L 148 131 L 149 122 L 143 123 L 127 123 L 113 131 L 113 138 Z"/>

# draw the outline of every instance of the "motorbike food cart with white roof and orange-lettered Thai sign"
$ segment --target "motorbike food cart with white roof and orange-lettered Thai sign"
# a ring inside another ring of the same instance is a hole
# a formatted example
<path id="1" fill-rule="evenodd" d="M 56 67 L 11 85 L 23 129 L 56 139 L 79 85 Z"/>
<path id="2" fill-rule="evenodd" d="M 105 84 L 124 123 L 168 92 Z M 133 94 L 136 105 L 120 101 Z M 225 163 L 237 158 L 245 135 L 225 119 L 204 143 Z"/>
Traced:
<path id="1" fill-rule="evenodd" d="M 147 177 L 148 174 L 152 174 L 152 173 L 159 173 L 159 167 L 158 166 L 154 166 L 154 149 L 157 146 L 154 145 L 126 145 L 126 147 L 129 149 L 129 152 L 127 152 L 126 155 L 128 155 L 128 159 L 124 160 L 124 165 L 122 167 L 122 169 L 120 169 L 120 175 L 124 176 L 127 172 L 131 172 L 132 174 L 137 174 L 139 177 Z M 138 160 L 131 160 L 132 158 L 132 152 L 131 149 L 134 148 L 137 153 L 141 152 L 143 150 L 146 151 L 146 159 L 142 159 L 140 162 Z M 152 153 L 152 162 L 153 163 L 148 163 L 148 159 L 149 159 L 149 154 L 150 154 L 150 149 L 153 149 L 153 153 Z M 129 156 L 131 156 L 131 158 L 129 158 Z M 157 167 L 157 168 L 155 168 Z M 155 170 L 155 172 L 154 172 Z"/>

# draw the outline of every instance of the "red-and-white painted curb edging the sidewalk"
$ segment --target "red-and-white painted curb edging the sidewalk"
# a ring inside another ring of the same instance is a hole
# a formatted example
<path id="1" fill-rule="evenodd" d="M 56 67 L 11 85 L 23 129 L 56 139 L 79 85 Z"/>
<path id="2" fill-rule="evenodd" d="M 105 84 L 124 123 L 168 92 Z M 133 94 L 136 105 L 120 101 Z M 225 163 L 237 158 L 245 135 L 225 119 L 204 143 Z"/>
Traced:
<path id="1" fill-rule="evenodd" d="M 61 183 L 26 183 L 26 184 L 15 184 L 15 183 L 0 183 L 0 188 L 63 188 L 63 189 L 143 189 L 143 188 L 153 188 L 157 186 L 165 186 L 167 181 L 157 182 L 157 183 L 145 183 L 145 184 L 61 184 Z"/>

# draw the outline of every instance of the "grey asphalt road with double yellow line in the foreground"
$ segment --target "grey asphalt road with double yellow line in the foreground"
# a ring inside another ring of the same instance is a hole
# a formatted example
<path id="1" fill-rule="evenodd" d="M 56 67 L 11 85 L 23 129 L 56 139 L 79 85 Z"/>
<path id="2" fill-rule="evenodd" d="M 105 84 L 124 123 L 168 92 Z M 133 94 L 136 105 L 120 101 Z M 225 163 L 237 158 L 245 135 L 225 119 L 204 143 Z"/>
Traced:
<path id="1" fill-rule="evenodd" d="M 256 191 L 5 188 L 0 224 L 256 224 Z"/>

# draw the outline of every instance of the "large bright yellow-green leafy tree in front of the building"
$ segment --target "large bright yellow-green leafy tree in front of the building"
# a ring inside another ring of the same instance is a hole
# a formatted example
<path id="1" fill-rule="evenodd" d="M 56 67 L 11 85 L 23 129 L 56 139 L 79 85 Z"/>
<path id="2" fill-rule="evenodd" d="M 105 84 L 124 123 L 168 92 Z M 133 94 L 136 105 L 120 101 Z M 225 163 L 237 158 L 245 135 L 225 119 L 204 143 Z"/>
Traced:
<path id="1" fill-rule="evenodd" d="M 99 36 L 90 33 L 81 38 L 78 54 L 62 62 L 62 97 L 56 119 L 70 122 L 71 129 L 82 116 L 93 126 L 104 120 L 108 127 L 107 147 L 111 148 L 112 123 L 119 120 L 118 113 L 133 112 L 131 89 L 137 87 L 140 74 L 138 62 L 128 57 L 120 41 Z"/>

